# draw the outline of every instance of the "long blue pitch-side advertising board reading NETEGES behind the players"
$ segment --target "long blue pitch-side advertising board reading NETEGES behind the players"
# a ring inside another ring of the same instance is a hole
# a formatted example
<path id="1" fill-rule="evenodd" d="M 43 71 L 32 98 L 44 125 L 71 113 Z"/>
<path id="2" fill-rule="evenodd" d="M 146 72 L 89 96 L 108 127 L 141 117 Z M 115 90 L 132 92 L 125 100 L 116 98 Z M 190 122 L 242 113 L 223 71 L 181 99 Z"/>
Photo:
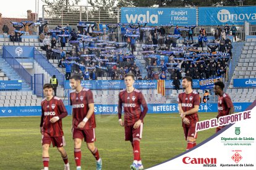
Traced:
<path id="1" fill-rule="evenodd" d="M 234 111 L 243 111 L 251 103 L 233 103 Z M 65 106 L 67 112 L 71 113 L 72 107 Z M 95 104 L 94 111 L 96 115 L 117 114 L 118 105 L 100 105 Z M 218 112 L 218 103 L 200 103 L 198 112 Z M 148 113 L 179 113 L 177 103 L 168 104 L 148 104 Z M 218 113 L 216 113 L 217 115 Z M 0 117 L 3 116 L 41 116 L 41 106 L 34 107 L 0 107 Z"/>

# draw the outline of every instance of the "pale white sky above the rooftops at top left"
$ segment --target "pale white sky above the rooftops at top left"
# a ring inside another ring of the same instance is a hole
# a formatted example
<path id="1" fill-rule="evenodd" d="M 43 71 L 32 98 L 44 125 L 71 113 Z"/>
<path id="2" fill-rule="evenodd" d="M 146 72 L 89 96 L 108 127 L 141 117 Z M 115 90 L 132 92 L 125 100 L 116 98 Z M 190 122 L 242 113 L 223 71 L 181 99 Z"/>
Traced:
<path id="1" fill-rule="evenodd" d="M 0 13 L 4 18 L 27 18 L 27 10 L 35 12 L 35 1 L 37 0 L 1 0 Z M 85 5 L 82 0 L 79 5 Z M 39 0 L 39 17 L 42 17 L 43 2 Z"/>

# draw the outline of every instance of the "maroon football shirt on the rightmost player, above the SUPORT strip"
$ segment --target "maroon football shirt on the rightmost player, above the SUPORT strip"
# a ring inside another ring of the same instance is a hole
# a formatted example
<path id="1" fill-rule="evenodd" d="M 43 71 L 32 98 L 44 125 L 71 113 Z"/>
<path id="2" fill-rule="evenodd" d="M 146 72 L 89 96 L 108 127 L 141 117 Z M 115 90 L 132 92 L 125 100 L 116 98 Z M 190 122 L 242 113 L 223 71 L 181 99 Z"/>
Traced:
<path id="1" fill-rule="evenodd" d="M 218 99 L 218 118 L 221 116 L 229 115 L 229 110 L 234 107 L 228 94 L 223 93 Z"/>

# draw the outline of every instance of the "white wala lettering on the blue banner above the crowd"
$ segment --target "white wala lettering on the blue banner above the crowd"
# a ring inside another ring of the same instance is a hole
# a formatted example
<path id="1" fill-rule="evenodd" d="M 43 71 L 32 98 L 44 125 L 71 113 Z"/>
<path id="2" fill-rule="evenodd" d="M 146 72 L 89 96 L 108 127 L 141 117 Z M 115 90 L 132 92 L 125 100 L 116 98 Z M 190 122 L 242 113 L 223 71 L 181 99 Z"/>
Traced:
<path id="1" fill-rule="evenodd" d="M 147 10 L 146 14 L 126 14 L 126 20 L 128 23 L 136 23 L 139 21 L 148 22 L 148 23 L 158 23 L 158 15 L 163 15 L 163 10 L 158 10 L 158 14 L 150 14 L 150 11 Z"/>

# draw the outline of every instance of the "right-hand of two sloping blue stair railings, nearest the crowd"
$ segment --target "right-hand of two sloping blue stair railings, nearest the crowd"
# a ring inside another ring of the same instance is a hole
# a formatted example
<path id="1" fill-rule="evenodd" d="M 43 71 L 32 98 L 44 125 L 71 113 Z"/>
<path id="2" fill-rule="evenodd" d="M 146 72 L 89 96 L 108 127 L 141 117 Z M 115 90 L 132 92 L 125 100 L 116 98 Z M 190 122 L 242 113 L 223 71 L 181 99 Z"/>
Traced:
<path id="1" fill-rule="evenodd" d="M 57 70 L 56 67 L 54 67 L 41 52 L 39 52 L 37 49 L 34 50 L 34 59 L 36 62 L 49 73 L 50 76 L 55 75 L 56 78 L 58 79 L 59 85 L 64 87 L 64 75 L 62 75 L 59 70 Z"/>

